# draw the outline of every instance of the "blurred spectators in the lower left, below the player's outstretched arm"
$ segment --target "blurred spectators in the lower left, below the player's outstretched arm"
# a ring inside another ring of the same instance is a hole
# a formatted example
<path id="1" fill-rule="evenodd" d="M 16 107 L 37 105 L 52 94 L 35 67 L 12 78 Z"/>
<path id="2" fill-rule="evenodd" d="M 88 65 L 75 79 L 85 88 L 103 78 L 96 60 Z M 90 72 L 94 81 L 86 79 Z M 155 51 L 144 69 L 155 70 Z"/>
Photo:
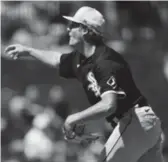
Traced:
<path id="1" fill-rule="evenodd" d="M 12 91 L 2 91 L 4 102 Z M 84 147 L 63 138 L 61 128 L 70 108 L 61 86 L 51 87 L 45 106 L 38 102 L 40 91 L 35 85 L 10 98 L 1 117 L 3 162 L 96 162 L 103 139 Z"/>

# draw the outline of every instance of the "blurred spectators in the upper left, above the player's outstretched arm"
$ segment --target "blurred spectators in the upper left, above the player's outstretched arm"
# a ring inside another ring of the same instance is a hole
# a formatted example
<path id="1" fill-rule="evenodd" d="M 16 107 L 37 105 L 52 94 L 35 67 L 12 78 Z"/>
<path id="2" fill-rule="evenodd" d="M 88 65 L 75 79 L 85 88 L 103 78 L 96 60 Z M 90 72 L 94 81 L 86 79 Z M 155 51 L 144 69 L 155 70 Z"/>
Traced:
<path id="1" fill-rule="evenodd" d="M 60 21 L 59 2 L 1 2 L 3 45 L 27 46 L 68 51 L 65 23 Z"/>

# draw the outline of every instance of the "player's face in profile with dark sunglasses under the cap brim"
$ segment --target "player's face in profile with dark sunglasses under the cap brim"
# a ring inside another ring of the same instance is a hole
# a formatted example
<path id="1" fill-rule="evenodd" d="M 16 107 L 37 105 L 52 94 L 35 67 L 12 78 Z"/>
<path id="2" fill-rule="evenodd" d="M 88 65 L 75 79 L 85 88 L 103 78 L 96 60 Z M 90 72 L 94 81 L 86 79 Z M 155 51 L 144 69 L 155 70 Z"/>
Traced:
<path id="1" fill-rule="evenodd" d="M 82 40 L 82 32 L 79 23 L 71 22 L 68 26 L 69 31 L 69 45 L 75 46 Z"/>

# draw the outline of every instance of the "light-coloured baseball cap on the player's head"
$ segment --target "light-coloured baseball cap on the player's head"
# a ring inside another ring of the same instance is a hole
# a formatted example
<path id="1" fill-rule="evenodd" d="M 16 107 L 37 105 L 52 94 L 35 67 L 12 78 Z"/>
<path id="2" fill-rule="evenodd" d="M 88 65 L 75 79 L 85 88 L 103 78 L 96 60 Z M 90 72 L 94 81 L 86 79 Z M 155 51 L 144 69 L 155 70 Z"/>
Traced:
<path id="1" fill-rule="evenodd" d="M 89 28 L 95 29 L 97 32 L 103 32 L 105 19 L 95 8 L 83 6 L 77 10 L 73 17 L 63 16 L 63 18 L 88 26 Z"/>

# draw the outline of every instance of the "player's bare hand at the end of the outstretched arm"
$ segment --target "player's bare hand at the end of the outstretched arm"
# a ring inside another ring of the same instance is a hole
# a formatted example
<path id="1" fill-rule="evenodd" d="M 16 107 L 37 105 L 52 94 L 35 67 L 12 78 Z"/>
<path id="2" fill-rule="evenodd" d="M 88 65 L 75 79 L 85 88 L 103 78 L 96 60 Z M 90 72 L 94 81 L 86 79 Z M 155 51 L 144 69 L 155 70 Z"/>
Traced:
<path id="1" fill-rule="evenodd" d="M 4 52 L 7 57 L 16 60 L 20 56 L 28 55 L 28 47 L 21 44 L 13 44 L 6 47 Z"/>

